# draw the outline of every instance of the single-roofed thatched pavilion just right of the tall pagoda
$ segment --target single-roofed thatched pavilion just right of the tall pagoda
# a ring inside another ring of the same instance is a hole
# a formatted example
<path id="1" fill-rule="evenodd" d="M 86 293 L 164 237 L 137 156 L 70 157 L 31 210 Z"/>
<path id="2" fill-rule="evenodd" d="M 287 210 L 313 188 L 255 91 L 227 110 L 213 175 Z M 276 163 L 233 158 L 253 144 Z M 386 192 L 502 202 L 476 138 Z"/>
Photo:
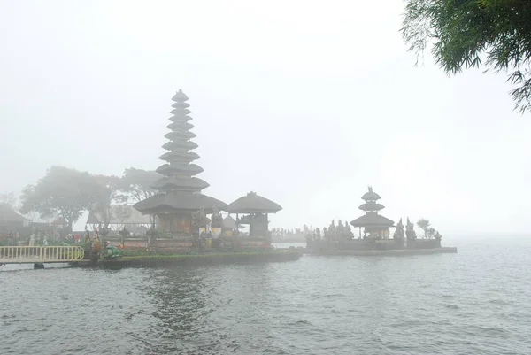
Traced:
<path id="1" fill-rule="evenodd" d="M 281 205 L 266 197 L 258 196 L 256 192 L 250 192 L 224 208 L 229 213 L 236 213 L 237 224 L 249 225 L 250 237 L 268 237 L 268 214 L 279 212 L 281 209 Z M 240 218 L 239 214 L 245 214 L 245 216 Z"/>

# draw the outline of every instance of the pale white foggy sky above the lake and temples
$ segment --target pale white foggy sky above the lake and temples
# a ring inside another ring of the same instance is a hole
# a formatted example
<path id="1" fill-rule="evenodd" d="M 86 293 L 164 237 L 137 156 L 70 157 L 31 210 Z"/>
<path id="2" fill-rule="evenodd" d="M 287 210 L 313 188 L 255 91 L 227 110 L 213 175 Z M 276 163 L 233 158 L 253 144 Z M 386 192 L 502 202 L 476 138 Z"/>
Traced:
<path id="1" fill-rule="evenodd" d="M 531 228 L 531 116 L 505 75 L 414 67 L 404 3 L 4 1 L 0 192 L 51 165 L 155 169 L 189 96 L 204 193 L 283 206 L 272 227 L 353 220 L 367 185 L 392 220 Z M 84 220 L 81 221 L 81 226 Z M 79 224 L 78 224 L 79 225 Z"/>

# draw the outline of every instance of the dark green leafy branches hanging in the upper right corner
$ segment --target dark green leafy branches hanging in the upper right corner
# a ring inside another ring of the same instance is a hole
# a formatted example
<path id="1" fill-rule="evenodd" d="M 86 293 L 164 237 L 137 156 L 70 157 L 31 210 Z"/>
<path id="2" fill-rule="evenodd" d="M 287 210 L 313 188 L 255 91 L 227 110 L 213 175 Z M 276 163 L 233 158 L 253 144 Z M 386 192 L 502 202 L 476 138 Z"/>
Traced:
<path id="1" fill-rule="evenodd" d="M 417 55 L 433 42 L 449 74 L 463 67 L 511 72 L 515 109 L 531 111 L 531 4 L 528 0 L 406 0 L 404 41 Z"/>

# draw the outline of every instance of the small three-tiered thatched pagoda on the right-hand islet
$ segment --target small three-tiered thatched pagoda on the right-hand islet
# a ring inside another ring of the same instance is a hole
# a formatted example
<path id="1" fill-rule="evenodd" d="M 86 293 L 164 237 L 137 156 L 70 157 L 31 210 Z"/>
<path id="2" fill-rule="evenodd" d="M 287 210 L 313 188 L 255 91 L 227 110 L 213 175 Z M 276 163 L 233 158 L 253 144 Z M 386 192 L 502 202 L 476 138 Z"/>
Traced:
<path id="1" fill-rule="evenodd" d="M 350 224 L 355 228 L 359 228 L 360 238 L 362 235 L 361 228 L 363 228 L 364 238 L 388 239 L 389 228 L 395 227 L 395 222 L 378 214 L 379 211 L 385 208 L 383 205 L 376 202 L 381 199 L 380 195 L 374 192 L 373 188 L 369 186 L 368 191 L 361 198 L 365 203 L 358 208 L 366 212 L 366 214 L 358 217 L 356 220 L 352 220 Z"/>

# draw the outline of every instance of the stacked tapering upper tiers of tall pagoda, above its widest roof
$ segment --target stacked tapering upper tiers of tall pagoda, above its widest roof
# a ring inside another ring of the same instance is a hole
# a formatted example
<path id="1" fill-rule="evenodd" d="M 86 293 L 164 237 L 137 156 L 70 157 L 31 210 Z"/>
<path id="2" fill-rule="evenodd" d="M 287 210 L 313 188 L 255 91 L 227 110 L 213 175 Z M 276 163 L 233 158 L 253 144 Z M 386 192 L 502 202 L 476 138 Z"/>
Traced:
<path id="1" fill-rule="evenodd" d="M 189 97 L 179 89 L 172 100 L 172 117 L 169 119 L 171 123 L 166 126 L 170 132 L 165 135 L 169 141 L 162 146 L 168 151 L 159 157 L 166 163 L 157 169 L 159 174 L 165 176 L 157 181 L 153 188 L 166 193 L 200 193 L 202 189 L 208 188 L 209 184 L 195 177 L 203 172 L 203 168 L 193 163 L 199 156 L 192 151 L 197 148 L 197 144 L 191 141 L 196 135 L 190 131 L 194 125 L 189 123 L 192 120 L 189 116 L 190 105 L 186 103 Z"/>

